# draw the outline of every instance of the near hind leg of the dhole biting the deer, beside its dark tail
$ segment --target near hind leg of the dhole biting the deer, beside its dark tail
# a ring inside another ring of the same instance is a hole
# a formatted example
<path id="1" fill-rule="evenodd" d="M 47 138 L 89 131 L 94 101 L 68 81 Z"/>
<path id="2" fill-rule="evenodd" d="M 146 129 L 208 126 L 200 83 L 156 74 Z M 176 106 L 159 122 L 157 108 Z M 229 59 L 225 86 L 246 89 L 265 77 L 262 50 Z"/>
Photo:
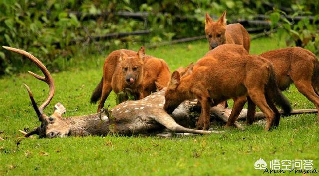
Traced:
<path id="1" fill-rule="evenodd" d="M 259 107 L 259 109 L 265 114 L 266 116 L 266 126 L 265 130 L 268 131 L 272 126 L 274 120 L 274 112 L 268 106 L 264 92 L 259 89 L 248 90 L 248 95 L 250 99 Z"/>

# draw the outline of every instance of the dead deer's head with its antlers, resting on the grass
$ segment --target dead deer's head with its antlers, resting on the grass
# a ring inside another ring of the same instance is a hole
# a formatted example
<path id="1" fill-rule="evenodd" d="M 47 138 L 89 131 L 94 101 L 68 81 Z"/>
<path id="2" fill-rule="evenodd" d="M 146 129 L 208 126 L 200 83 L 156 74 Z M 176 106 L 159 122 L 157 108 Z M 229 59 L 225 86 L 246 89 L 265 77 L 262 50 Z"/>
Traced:
<path id="1" fill-rule="evenodd" d="M 54 112 L 52 115 L 47 116 L 43 112 L 45 107 L 52 100 L 52 98 L 54 96 L 54 91 L 55 91 L 54 81 L 53 81 L 53 78 L 52 78 L 50 72 L 42 64 L 41 61 L 39 61 L 36 57 L 31 55 L 30 53 L 23 51 L 23 50 L 20 50 L 20 49 L 6 47 L 6 46 L 3 46 L 3 48 L 10 50 L 10 51 L 13 51 L 13 52 L 16 52 L 16 53 L 21 54 L 21 55 L 24 55 L 28 59 L 30 59 L 32 62 L 34 62 L 41 69 L 41 71 L 44 74 L 44 77 L 39 76 L 31 71 L 28 71 L 28 72 L 31 75 L 33 75 L 35 78 L 47 83 L 50 87 L 49 96 L 47 97 L 45 102 L 40 107 L 38 107 L 34 98 L 33 98 L 33 95 L 32 95 L 30 88 L 26 84 L 24 84 L 24 86 L 26 87 L 26 89 L 29 93 L 33 108 L 38 116 L 39 121 L 41 122 L 41 126 L 31 130 L 30 132 L 26 133 L 24 136 L 29 137 L 33 134 L 39 135 L 40 138 L 55 138 L 55 137 L 68 136 L 68 134 L 70 132 L 70 124 L 65 119 L 62 119 L 62 114 L 65 112 L 65 108 L 63 107 L 63 105 L 61 103 L 55 104 Z"/>

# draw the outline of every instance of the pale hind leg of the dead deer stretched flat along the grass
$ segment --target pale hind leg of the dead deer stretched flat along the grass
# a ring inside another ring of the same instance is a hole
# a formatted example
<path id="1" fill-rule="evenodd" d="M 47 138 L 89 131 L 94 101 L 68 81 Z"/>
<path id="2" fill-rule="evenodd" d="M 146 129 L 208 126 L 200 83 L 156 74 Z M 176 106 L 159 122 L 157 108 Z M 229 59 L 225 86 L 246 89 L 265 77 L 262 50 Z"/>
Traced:
<path id="1" fill-rule="evenodd" d="M 159 109 L 159 112 L 162 111 L 162 109 Z M 169 116 L 166 112 L 158 113 L 157 116 L 151 117 L 158 123 L 165 126 L 168 130 L 175 132 L 175 133 L 193 133 L 193 134 L 220 134 L 223 133 L 223 131 L 209 131 L 209 130 L 195 130 L 190 128 L 185 128 L 175 122 L 175 120 Z"/>

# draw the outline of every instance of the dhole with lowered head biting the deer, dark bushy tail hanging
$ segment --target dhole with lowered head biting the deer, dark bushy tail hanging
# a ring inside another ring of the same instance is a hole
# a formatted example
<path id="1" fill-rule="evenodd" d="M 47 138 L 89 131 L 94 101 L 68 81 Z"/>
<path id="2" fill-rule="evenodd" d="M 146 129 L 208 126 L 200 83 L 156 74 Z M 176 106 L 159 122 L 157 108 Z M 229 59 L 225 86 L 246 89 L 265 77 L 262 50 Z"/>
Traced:
<path id="1" fill-rule="evenodd" d="M 289 102 L 277 87 L 271 63 L 261 56 L 248 55 L 240 45 L 225 44 L 198 60 L 192 73 L 183 77 L 177 71 L 172 74 L 165 92 L 164 109 L 171 113 L 184 100 L 197 98 L 201 103 L 197 127 L 208 129 L 210 107 L 232 98 L 234 106 L 226 124 L 230 126 L 242 110 L 246 96 L 265 114 L 265 130 L 279 124 L 280 114 L 273 101 L 287 114 L 291 111 Z"/>

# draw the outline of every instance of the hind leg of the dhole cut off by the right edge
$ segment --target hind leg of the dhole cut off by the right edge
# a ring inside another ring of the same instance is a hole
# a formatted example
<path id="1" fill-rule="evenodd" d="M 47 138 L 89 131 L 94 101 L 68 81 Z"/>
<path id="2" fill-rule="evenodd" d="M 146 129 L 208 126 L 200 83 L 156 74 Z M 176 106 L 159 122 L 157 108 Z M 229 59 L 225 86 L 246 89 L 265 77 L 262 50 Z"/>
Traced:
<path id="1" fill-rule="evenodd" d="M 319 110 L 319 96 L 316 94 L 314 88 L 312 87 L 310 81 L 296 81 L 294 82 L 296 88 L 300 93 L 302 93 L 309 101 L 314 103 L 317 110 Z M 319 114 L 317 113 L 317 121 L 319 121 Z"/>

